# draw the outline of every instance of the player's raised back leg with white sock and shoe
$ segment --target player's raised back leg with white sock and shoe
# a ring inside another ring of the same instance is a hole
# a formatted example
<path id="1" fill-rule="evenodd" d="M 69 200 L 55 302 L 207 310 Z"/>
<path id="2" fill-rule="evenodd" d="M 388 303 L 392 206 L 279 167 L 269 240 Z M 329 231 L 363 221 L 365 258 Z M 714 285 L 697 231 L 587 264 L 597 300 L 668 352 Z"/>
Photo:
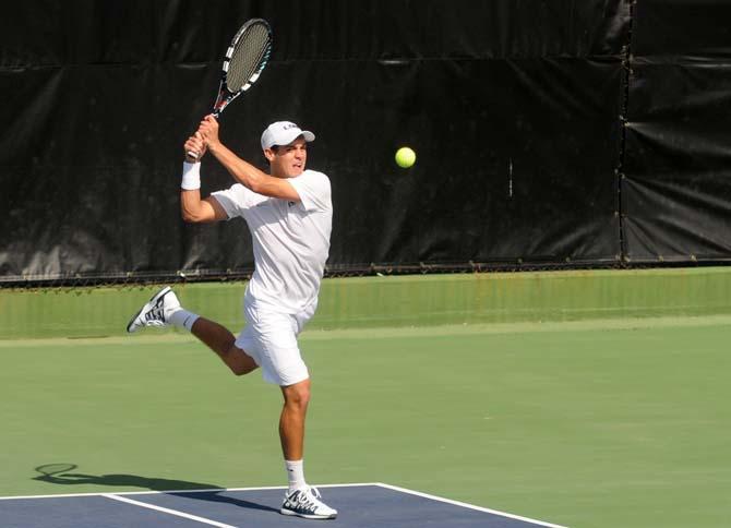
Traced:
<path id="1" fill-rule="evenodd" d="M 133 333 L 144 326 L 177 326 L 185 328 L 208 346 L 237 375 L 256 369 L 255 361 L 236 346 L 236 338 L 228 328 L 201 317 L 180 305 L 175 292 L 165 287 L 130 320 L 127 332 Z"/>

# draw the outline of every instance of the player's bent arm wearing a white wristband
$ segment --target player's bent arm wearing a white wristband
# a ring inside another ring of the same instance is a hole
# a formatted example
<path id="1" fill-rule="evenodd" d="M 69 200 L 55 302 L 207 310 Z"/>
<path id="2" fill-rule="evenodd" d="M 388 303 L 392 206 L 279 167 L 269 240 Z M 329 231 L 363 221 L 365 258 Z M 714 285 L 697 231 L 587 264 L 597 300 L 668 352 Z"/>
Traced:
<path id="1" fill-rule="evenodd" d="M 185 152 L 185 164 L 183 166 L 183 182 L 180 189 L 180 214 L 182 219 L 192 224 L 227 220 L 228 214 L 220 206 L 218 201 L 212 196 L 201 200 L 200 176 L 197 176 L 197 185 L 195 177 L 201 167 L 201 158 L 205 154 L 205 144 L 201 135 L 196 132 L 185 142 L 183 149 Z M 188 153 L 196 153 L 197 159 L 192 159 Z"/>

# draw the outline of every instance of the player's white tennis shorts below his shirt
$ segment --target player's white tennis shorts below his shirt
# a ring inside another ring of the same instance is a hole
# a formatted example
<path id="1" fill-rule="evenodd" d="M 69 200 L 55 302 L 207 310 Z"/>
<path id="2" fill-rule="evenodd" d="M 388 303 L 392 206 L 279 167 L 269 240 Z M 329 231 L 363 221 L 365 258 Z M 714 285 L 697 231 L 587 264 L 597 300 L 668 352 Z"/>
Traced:
<path id="1" fill-rule="evenodd" d="M 244 303 L 247 326 L 236 339 L 236 346 L 251 356 L 262 369 L 268 383 L 293 385 L 310 377 L 297 336 L 314 314 L 316 302 L 302 313 L 280 313 L 256 303 Z"/>

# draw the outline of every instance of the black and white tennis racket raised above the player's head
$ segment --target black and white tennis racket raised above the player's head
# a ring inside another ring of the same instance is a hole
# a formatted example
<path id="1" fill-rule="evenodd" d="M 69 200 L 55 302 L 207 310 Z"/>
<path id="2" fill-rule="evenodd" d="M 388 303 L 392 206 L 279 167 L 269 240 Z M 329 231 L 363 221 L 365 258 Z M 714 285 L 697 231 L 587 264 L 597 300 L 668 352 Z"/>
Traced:
<path id="1" fill-rule="evenodd" d="M 218 96 L 213 105 L 213 117 L 243 94 L 256 82 L 272 53 L 272 27 L 263 19 L 251 19 L 237 32 L 226 50 L 220 73 Z M 197 153 L 188 155 L 197 159 Z"/>

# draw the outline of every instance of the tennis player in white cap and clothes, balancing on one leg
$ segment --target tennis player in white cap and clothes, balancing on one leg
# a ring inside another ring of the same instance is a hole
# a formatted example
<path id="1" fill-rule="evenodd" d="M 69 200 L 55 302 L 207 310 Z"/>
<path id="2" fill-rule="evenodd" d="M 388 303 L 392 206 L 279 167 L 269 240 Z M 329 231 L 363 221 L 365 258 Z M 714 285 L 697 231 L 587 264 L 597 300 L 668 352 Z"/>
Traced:
<path id="1" fill-rule="evenodd" d="M 279 436 L 289 489 L 280 512 L 310 519 L 332 519 L 337 512 L 304 480 L 304 421 L 310 374 L 297 336 L 317 307 L 317 293 L 329 251 L 333 206 L 328 178 L 305 169 L 307 144 L 314 134 L 279 121 L 262 134 L 269 173 L 239 158 L 219 140 L 218 122 L 206 116 L 188 139 L 180 191 L 182 217 L 191 223 L 245 219 L 254 250 L 254 274 L 243 300 L 245 327 L 235 337 L 224 326 L 184 310 L 169 287 L 163 288 L 132 317 L 128 332 L 143 326 L 187 328 L 237 375 L 261 368 L 265 381 L 279 385 L 284 407 Z M 201 200 L 200 159 L 207 152 L 236 183 Z"/>

